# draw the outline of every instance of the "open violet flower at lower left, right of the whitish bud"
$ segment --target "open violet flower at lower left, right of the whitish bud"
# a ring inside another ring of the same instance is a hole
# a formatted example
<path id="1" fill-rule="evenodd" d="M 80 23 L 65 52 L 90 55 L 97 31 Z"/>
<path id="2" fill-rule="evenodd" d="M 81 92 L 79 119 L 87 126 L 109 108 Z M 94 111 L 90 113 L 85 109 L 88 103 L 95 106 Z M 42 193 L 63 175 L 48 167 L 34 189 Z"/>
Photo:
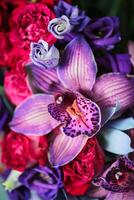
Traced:
<path id="1" fill-rule="evenodd" d="M 34 167 L 27 169 L 19 178 L 20 182 L 30 190 L 35 190 L 44 200 L 56 198 L 59 188 L 63 187 L 58 169 Z"/>

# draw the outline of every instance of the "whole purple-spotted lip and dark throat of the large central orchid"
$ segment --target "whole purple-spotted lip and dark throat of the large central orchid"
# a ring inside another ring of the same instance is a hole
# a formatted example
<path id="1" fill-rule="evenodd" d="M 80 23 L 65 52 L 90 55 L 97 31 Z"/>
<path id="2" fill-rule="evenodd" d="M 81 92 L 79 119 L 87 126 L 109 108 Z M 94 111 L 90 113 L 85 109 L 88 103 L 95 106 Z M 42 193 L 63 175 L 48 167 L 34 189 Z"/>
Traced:
<path id="1" fill-rule="evenodd" d="M 92 137 L 100 129 L 100 109 L 79 93 L 66 92 L 58 96 L 55 103 L 48 105 L 50 115 L 60 121 L 66 135 L 80 134 Z"/>

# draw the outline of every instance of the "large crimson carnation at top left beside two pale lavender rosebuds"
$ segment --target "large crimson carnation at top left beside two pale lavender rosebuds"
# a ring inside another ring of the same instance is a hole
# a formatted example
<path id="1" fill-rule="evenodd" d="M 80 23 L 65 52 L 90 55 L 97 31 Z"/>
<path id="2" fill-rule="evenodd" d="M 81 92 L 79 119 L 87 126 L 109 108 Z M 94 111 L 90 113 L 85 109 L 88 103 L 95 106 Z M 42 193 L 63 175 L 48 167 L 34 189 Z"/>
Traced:
<path id="1" fill-rule="evenodd" d="M 13 45 L 29 49 L 31 42 L 43 39 L 49 44 L 56 38 L 48 32 L 48 23 L 54 13 L 43 3 L 29 3 L 14 9 L 10 19 L 10 41 Z"/>

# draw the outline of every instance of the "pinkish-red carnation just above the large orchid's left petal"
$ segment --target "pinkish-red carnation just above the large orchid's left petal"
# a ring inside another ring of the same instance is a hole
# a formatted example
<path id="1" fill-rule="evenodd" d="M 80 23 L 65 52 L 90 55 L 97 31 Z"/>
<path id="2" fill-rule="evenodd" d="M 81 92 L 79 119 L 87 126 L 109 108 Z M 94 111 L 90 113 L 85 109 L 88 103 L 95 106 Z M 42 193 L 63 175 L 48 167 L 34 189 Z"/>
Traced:
<path id="1" fill-rule="evenodd" d="M 10 69 L 5 72 L 4 89 L 7 97 L 14 105 L 20 104 L 31 95 L 25 71 L 25 64 L 28 59 L 28 52 L 20 48 L 13 48 L 8 54 L 7 66 Z"/>

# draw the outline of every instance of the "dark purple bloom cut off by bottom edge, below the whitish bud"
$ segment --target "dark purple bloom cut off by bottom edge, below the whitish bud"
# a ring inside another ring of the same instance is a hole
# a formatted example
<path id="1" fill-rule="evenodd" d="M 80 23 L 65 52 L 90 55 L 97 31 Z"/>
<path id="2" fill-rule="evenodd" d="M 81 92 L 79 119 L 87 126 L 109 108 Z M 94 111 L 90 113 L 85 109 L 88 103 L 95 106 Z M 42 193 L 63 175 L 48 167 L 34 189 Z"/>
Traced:
<path id="1" fill-rule="evenodd" d="M 11 200 L 29 200 L 30 199 L 30 191 L 25 186 L 20 186 L 11 192 L 8 192 L 9 198 Z"/>

